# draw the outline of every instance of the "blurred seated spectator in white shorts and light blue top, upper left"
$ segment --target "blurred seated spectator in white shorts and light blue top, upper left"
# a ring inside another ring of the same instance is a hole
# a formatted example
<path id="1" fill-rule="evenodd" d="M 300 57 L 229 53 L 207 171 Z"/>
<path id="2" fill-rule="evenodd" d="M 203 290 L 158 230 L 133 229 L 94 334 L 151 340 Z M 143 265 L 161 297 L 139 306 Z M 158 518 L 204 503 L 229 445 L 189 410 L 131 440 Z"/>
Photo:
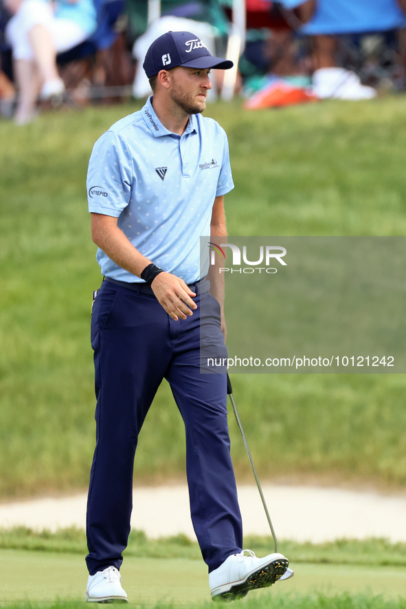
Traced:
<path id="1" fill-rule="evenodd" d="M 35 116 L 41 99 L 62 95 L 65 85 L 56 67 L 56 53 L 67 51 L 91 36 L 96 27 L 92 0 L 5 0 L 14 16 L 5 33 L 12 46 L 14 76 L 19 89 L 16 123 Z"/>

